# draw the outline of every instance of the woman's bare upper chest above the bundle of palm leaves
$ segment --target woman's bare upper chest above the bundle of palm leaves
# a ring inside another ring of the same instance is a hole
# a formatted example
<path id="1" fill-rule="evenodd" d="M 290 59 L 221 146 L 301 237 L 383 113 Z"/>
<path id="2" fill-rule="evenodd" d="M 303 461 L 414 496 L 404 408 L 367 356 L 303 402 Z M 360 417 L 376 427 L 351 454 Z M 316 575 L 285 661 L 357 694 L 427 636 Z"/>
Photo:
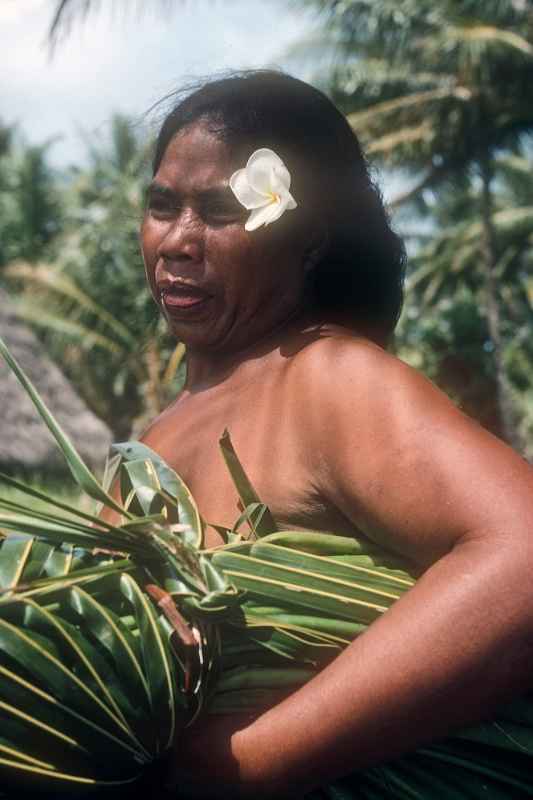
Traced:
<path id="1" fill-rule="evenodd" d="M 309 474 L 305 435 L 295 429 L 296 421 L 291 423 L 287 409 L 267 411 L 264 403 L 254 408 L 253 395 L 178 403 L 144 441 L 180 474 L 209 526 L 232 527 L 243 510 L 220 445 L 227 430 L 242 469 L 279 527 L 346 532 L 346 520 L 320 496 Z M 220 541 L 212 527 L 207 538 L 208 546 Z"/>

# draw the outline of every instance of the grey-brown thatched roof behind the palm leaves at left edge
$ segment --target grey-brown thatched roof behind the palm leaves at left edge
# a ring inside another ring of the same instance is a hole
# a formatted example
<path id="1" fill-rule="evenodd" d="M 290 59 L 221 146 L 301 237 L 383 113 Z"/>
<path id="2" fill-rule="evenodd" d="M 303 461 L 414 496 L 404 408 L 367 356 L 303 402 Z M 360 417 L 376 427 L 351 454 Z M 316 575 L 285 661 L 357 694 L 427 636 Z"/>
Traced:
<path id="1" fill-rule="evenodd" d="M 44 353 L 38 339 L 14 313 L 9 295 L 1 289 L 0 336 L 80 455 L 92 467 L 102 468 L 111 443 L 109 429 Z M 63 458 L 51 434 L 1 356 L 0 401 L 0 467 L 9 471 L 62 471 Z"/>

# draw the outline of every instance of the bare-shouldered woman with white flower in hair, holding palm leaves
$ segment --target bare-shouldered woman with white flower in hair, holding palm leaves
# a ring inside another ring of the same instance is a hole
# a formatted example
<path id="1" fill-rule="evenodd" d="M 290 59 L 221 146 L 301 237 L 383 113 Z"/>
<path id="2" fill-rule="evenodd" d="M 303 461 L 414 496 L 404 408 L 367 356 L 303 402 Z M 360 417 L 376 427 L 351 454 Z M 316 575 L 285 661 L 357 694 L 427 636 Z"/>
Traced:
<path id="1" fill-rule="evenodd" d="M 344 117 L 279 73 L 208 83 L 163 124 L 141 241 L 188 354 L 143 440 L 203 516 L 238 513 L 228 428 L 284 528 L 357 532 L 423 573 L 290 698 L 191 729 L 169 783 L 302 796 L 530 689 L 533 475 L 383 349 L 404 252 Z"/>

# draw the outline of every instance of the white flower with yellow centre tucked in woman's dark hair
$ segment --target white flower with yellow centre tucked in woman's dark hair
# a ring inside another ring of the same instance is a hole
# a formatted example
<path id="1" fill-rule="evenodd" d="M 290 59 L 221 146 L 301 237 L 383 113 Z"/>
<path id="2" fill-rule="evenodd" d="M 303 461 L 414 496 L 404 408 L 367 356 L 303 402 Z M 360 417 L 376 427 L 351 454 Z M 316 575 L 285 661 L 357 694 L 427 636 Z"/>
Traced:
<path id="1" fill-rule="evenodd" d="M 281 158 L 267 147 L 255 150 L 244 169 L 233 173 L 229 185 L 239 203 L 252 212 L 244 226 L 247 231 L 255 231 L 260 225 L 270 225 L 284 211 L 297 206 L 289 192 L 289 170 Z"/>

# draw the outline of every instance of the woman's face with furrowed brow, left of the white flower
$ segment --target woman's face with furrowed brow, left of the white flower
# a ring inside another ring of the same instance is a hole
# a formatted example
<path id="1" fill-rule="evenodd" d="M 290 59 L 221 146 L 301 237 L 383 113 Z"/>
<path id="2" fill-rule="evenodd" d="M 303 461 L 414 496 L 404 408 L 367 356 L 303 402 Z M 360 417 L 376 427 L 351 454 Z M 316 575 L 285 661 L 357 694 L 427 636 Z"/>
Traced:
<path id="1" fill-rule="evenodd" d="M 280 235 L 292 233 L 288 218 L 245 231 L 248 212 L 229 188 L 242 166 L 197 122 L 170 141 L 149 189 L 141 229 L 146 275 L 170 330 L 192 348 L 248 347 L 303 298 L 303 237 Z"/>

